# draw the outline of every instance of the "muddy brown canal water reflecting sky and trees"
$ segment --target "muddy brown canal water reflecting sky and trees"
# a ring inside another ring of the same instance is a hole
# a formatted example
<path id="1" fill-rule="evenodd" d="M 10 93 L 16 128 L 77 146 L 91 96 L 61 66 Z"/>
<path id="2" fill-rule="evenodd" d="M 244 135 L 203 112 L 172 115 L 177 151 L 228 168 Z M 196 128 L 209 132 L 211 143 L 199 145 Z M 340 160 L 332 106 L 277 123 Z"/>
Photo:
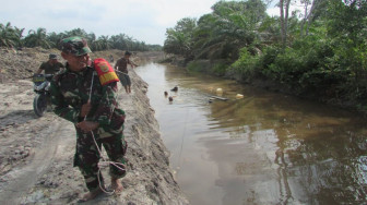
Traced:
<path id="1" fill-rule="evenodd" d="M 367 203 L 365 119 L 178 68 L 137 72 L 191 204 Z M 228 100 L 209 102 L 218 87 Z"/>

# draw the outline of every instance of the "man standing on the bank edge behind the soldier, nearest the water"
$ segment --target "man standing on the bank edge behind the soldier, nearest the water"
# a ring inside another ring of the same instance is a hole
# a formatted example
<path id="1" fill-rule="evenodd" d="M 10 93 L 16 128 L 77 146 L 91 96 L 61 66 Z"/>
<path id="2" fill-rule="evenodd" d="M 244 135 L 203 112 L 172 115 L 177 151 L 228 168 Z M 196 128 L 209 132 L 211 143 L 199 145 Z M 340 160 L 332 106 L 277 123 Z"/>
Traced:
<path id="1" fill-rule="evenodd" d="M 120 58 L 115 64 L 115 71 L 117 71 L 117 74 L 127 94 L 131 93 L 131 81 L 129 76 L 128 64 L 130 64 L 132 68 L 138 67 L 130 60 L 130 57 L 131 52 L 126 51 L 123 57 Z"/>

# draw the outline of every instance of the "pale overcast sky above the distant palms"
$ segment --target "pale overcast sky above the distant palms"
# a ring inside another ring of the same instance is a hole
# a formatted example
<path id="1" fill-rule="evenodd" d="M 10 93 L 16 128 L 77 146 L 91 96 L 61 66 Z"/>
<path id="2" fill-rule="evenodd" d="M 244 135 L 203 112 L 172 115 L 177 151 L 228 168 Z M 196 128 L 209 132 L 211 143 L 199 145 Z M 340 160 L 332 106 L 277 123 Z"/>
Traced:
<path id="1" fill-rule="evenodd" d="M 211 12 L 218 0 L 0 0 L 0 23 L 47 33 L 83 28 L 100 35 L 126 34 L 163 45 L 166 28 L 182 17 Z M 269 10 L 277 14 L 279 9 Z"/>

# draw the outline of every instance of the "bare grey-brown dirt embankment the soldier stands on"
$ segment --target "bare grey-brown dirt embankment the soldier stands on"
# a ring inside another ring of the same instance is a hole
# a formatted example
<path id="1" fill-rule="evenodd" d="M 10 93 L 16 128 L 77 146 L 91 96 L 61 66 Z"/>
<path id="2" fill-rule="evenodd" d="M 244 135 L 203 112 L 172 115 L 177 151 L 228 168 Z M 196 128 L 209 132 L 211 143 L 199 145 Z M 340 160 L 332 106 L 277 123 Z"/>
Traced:
<path id="1" fill-rule="evenodd" d="M 26 79 L 49 52 L 58 51 L 0 52 L 0 204 L 78 203 L 86 188 L 78 168 L 72 167 L 73 125 L 50 111 L 37 118 L 32 105 L 33 83 Z M 143 63 L 154 58 L 156 53 L 138 53 L 134 60 Z M 188 204 L 169 169 L 169 153 L 145 95 L 147 84 L 133 71 L 130 76 L 132 94 L 127 95 L 120 87 L 118 96 L 127 112 L 129 161 L 128 174 L 122 179 L 125 191 L 120 195 L 103 194 L 91 204 Z M 102 170 L 109 185 L 108 168 Z"/>

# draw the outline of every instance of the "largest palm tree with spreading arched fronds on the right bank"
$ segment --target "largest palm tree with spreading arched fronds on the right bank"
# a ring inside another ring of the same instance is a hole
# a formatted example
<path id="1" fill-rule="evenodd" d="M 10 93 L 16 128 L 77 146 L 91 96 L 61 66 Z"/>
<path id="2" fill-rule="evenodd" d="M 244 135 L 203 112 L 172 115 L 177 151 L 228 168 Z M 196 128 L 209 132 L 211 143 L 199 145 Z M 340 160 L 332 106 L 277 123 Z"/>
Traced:
<path id="1" fill-rule="evenodd" d="M 196 58 L 238 59 L 242 47 L 259 38 L 258 27 L 265 15 L 260 0 L 220 1 L 211 14 L 203 15 L 194 33 Z"/>

